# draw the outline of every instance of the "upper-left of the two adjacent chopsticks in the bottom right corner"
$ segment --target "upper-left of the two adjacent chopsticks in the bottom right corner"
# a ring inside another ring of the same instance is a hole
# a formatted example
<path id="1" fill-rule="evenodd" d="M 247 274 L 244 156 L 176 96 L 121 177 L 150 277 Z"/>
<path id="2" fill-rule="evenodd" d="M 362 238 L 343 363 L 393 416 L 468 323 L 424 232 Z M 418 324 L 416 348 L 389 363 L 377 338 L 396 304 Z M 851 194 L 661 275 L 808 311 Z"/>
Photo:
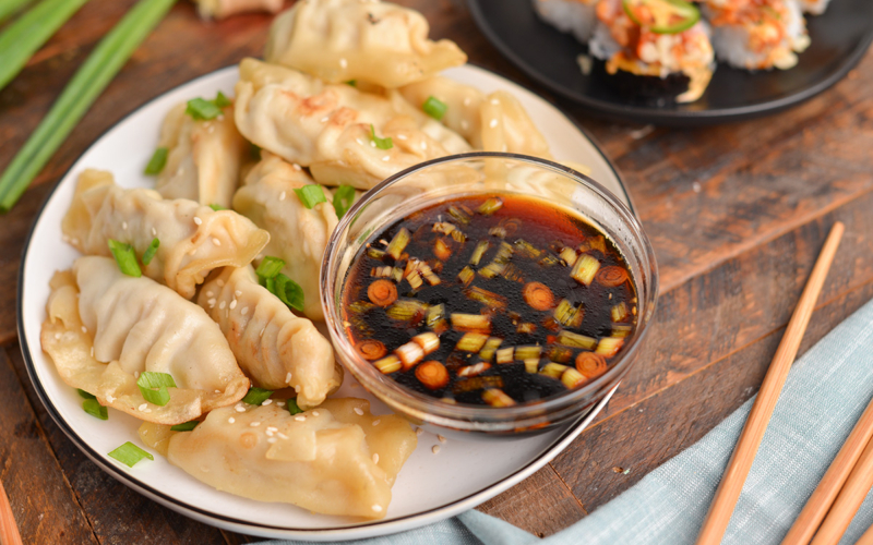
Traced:
<path id="1" fill-rule="evenodd" d="M 873 438 L 873 401 L 866 405 L 864 413 L 858 419 L 852 433 L 849 434 L 836 458 L 830 462 L 822 482 L 815 487 L 812 496 L 806 500 L 806 505 L 803 506 L 803 510 L 800 511 L 798 520 L 785 535 L 782 545 L 810 543 L 871 438 Z M 871 534 L 871 538 L 873 538 L 873 534 Z"/>

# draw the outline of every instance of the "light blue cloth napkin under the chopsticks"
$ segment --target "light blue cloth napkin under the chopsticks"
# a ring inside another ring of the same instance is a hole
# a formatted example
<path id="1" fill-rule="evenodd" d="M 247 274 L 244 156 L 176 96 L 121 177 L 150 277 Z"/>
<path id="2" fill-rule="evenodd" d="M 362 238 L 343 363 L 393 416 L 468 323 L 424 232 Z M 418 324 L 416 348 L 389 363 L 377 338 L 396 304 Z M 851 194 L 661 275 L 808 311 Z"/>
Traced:
<path id="1" fill-rule="evenodd" d="M 779 543 L 873 398 L 873 301 L 792 368 L 722 543 Z M 356 545 L 694 543 L 752 407 L 749 400 L 696 445 L 566 530 L 545 540 L 478 511 Z M 873 523 L 866 497 L 841 544 Z M 270 542 L 302 545 L 302 542 Z"/>

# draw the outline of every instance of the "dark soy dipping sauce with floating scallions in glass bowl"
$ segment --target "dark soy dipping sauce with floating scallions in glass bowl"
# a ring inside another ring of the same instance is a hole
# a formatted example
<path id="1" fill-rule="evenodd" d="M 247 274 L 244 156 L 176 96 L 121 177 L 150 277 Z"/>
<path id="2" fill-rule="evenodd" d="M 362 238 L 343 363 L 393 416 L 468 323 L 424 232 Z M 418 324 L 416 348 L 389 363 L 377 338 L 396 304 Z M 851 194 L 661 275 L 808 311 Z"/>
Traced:
<path id="1" fill-rule="evenodd" d="M 476 211 L 483 202 L 494 197 L 503 203 L 500 209 L 490 216 Z M 469 222 L 464 225 L 453 217 L 449 211 L 451 206 L 456 209 L 466 209 L 470 213 Z M 511 219 L 513 221 L 510 222 L 509 220 Z M 464 233 L 466 241 L 458 243 L 450 235 L 433 232 L 435 222 L 451 222 Z M 512 231 L 510 223 L 515 225 L 514 231 Z M 507 233 L 503 239 L 499 235 L 489 234 L 492 228 L 499 226 L 506 228 Z M 408 254 L 408 257 L 404 255 L 395 263 L 388 255 L 384 255 L 382 258 L 374 258 L 368 255 L 369 249 L 384 251 L 387 243 L 394 239 L 402 228 L 406 228 L 410 233 L 409 243 L 403 251 L 404 254 Z M 452 251 L 451 257 L 442 263 L 442 270 L 439 270 L 438 259 L 434 255 L 434 240 L 438 238 L 443 239 Z M 517 252 L 512 255 L 510 263 L 516 268 L 513 272 L 521 274 L 524 279 L 523 282 L 509 280 L 503 276 L 485 278 L 479 274 L 494 258 L 501 240 L 515 247 L 515 243 L 519 239 L 541 252 L 537 258 L 529 258 Z M 458 280 L 458 272 L 469 265 L 477 243 L 482 240 L 489 241 L 490 246 L 481 256 L 479 265 L 471 266 L 477 274 L 469 284 L 464 286 Z M 597 243 L 598 240 L 602 242 Z M 593 242 L 598 249 L 588 247 Z M 581 246 L 582 250 L 578 250 Z M 627 331 L 636 325 L 636 295 L 630 274 L 627 274 L 626 281 L 615 287 L 606 287 L 597 279 L 590 282 L 589 286 L 585 286 L 571 278 L 572 267 L 567 266 L 559 257 L 559 252 L 562 247 L 576 250 L 579 258 L 584 254 L 595 257 L 600 262 L 601 268 L 617 266 L 627 272 L 627 266 L 621 253 L 609 238 L 605 237 L 597 228 L 585 222 L 581 217 L 567 214 L 565 210 L 553 207 L 545 201 L 512 194 L 481 194 L 464 196 L 423 208 L 373 234 L 356 256 L 346 278 L 346 288 L 344 290 L 346 329 L 356 346 L 367 339 L 381 341 L 387 349 L 386 355 L 391 355 L 395 349 L 409 342 L 414 336 L 431 331 L 432 329 L 428 327 L 427 319 L 421 313 L 415 316 L 412 320 L 393 319 L 386 314 L 386 308 L 372 307 L 368 299 L 369 286 L 378 280 L 378 278 L 371 276 L 373 268 L 385 267 L 386 265 L 404 268 L 409 258 L 418 258 L 428 263 L 439 277 L 439 284 L 431 286 L 424 281 L 420 288 L 414 290 L 406 278 L 394 283 L 396 284 L 399 300 L 415 299 L 427 305 L 444 305 L 447 329 L 439 336 L 440 348 L 424 355 L 421 362 L 436 360 L 443 363 L 449 371 L 449 384 L 434 390 L 424 387 L 416 377 L 415 366 L 407 371 L 400 370 L 390 373 L 388 376 L 406 388 L 449 402 L 487 404 L 482 399 L 485 390 L 481 388 L 459 391 L 458 384 L 468 380 L 468 378 L 458 377 L 458 371 L 464 366 L 481 362 L 482 359 L 478 353 L 455 350 L 455 344 L 464 336 L 464 332 L 452 329 L 449 318 L 452 313 L 489 314 L 492 325 L 489 335 L 503 339 L 499 348 L 535 344 L 542 347 L 538 370 L 542 370 L 545 365 L 549 364 L 549 348 L 557 346 L 555 336 L 558 330 L 573 331 L 594 339 L 612 336 L 615 323 L 612 320 L 611 310 L 620 302 L 624 302 L 627 310 L 626 317 L 619 324 L 624 327 L 625 335 L 630 335 Z M 605 251 L 599 250 L 599 247 Z M 540 263 L 546 256 L 549 256 L 549 261 L 553 265 L 545 266 Z M 542 282 L 551 289 L 554 295 L 554 304 L 548 311 L 534 310 L 525 302 L 522 290 L 525 283 L 531 281 Z M 505 298 L 507 301 L 506 308 L 492 312 L 488 305 L 468 299 L 465 295 L 465 290 L 471 287 L 478 287 Z M 583 305 L 584 317 L 578 327 L 559 326 L 554 328 L 555 323 L 550 322 L 554 317 L 554 307 L 562 299 L 566 299 L 574 306 Z M 357 306 L 354 304 L 356 302 L 358 303 Z M 369 306 L 369 308 L 364 312 L 358 312 L 361 306 Z M 521 315 L 521 320 L 518 315 Z M 536 330 L 534 332 L 517 332 L 518 322 L 533 323 L 537 326 Z M 547 328 L 543 325 L 545 323 L 550 323 L 552 329 Z M 572 358 L 564 365 L 573 367 L 576 355 L 583 351 L 578 348 L 572 349 Z M 621 349 L 618 354 L 620 353 Z M 614 361 L 615 358 L 607 358 L 606 361 L 609 362 L 610 360 Z M 500 389 L 516 403 L 535 402 L 567 390 L 567 387 L 558 378 L 528 372 L 522 361 L 498 364 L 495 359 L 491 358 L 490 363 L 491 367 L 477 376 L 499 377 L 486 380 L 502 380 Z"/>

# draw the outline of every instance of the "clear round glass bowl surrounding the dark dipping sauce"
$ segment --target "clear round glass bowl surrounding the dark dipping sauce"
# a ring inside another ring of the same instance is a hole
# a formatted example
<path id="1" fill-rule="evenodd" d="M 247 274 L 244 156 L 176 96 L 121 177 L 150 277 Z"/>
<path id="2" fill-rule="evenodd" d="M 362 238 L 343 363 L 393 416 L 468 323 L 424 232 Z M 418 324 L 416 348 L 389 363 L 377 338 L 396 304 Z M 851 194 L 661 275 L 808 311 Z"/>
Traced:
<path id="1" fill-rule="evenodd" d="M 495 408 L 451 404 L 407 389 L 357 354 L 343 325 L 346 276 L 373 232 L 429 205 L 482 193 L 513 193 L 547 201 L 582 216 L 617 245 L 636 286 L 637 325 L 610 368 L 593 382 L 541 401 Z M 471 153 L 422 162 L 383 181 L 351 207 L 334 229 L 321 267 L 322 306 L 343 365 L 396 413 L 440 433 L 518 436 L 582 417 L 631 368 L 655 313 L 658 269 L 639 221 L 590 178 L 557 162 L 514 154 Z M 452 434 L 456 435 L 456 434 Z"/>

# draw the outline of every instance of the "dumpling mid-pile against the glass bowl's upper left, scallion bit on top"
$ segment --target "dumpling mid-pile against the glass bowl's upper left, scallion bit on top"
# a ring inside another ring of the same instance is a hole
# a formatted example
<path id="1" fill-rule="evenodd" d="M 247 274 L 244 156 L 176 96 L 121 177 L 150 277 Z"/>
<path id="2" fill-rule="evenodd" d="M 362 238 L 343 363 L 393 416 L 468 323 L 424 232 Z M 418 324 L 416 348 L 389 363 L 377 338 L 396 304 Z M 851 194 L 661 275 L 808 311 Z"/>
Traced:
<path id="1" fill-rule="evenodd" d="M 330 192 L 325 191 L 328 202 L 307 208 L 294 190 L 315 183 L 309 174 L 267 152 L 261 157 L 234 196 L 234 209 L 270 232 L 264 254 L 285 261 L 283 272 L 303 289 L 307 317 L 324 319 L 319 274 L 327 239 L 337 223 Z"/>

